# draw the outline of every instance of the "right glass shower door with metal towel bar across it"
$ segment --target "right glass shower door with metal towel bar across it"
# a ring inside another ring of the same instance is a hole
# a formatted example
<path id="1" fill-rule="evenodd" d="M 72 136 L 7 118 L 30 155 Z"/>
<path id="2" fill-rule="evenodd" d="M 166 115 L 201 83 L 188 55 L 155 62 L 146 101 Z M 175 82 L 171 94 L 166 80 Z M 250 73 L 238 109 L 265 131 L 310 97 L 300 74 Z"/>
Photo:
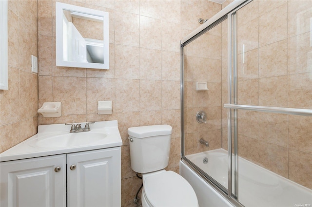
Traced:
<path id="1" fill-rule="evenodd" d="M 312 1 L 252 1 L 229 16 L 225 107 L 236 158 L 232 192 L 244 206 L 312 202 L 311 9 Z"/>

